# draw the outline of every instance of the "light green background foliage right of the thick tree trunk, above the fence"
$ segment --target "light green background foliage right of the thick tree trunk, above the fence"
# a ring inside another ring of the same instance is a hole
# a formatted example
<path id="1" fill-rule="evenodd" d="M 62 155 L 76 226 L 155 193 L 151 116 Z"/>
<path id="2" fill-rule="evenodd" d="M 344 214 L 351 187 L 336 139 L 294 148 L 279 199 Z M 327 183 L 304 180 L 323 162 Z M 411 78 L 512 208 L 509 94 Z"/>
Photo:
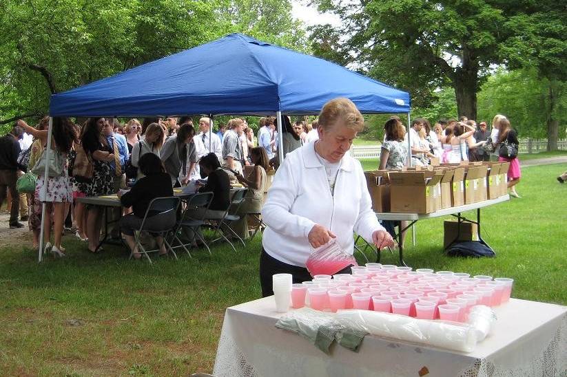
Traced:
<path id="1" fill-rule="evenodd" d="M 495 114 L 504 114 L 520 137 L 546 138 L 549 85 L 549 80 L 539 78 L 535 69 L 511 72 L 500 69 L 481 88 L 477 120 L 490 124 Z M 553 116 L 559 120 L 562 138 L 567 125 L 567 83 L 561 83 L 560 89 Z"/>

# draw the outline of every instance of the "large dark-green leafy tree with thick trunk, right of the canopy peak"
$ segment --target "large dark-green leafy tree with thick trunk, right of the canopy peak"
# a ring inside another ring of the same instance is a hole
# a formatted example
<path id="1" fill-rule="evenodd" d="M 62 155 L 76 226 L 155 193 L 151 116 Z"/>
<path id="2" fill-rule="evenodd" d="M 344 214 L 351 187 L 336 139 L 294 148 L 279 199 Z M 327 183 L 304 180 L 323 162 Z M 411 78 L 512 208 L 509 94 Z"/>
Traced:
<path id="1" fill-rule="evenodd" d="M 538 7 L 519 0 L 314 1 L 341 17 L 340 54 L 354 56 L 351 63 L 409 90 L 418 107 L 433 102 L 435 89 L 451 85 L 458 115 L 470 118 L 477 116 L 480 85 L 491 66 L 506 63 L 502 46 L 517 34 L 506 20 Z"/>

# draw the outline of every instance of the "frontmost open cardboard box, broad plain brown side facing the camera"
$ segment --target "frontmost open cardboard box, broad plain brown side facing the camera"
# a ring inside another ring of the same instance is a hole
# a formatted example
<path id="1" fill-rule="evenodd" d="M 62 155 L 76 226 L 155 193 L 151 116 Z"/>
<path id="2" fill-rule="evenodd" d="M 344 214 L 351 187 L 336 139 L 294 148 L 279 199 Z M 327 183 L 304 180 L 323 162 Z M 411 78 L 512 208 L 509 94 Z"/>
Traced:
<path id="1" fill-rule="evenodd" d="M 392 212 L 432 213 L 436 211 L 435 186 L 440 182 L 442 175 L 429 170 L 391 171 L 389 177 Z"/>

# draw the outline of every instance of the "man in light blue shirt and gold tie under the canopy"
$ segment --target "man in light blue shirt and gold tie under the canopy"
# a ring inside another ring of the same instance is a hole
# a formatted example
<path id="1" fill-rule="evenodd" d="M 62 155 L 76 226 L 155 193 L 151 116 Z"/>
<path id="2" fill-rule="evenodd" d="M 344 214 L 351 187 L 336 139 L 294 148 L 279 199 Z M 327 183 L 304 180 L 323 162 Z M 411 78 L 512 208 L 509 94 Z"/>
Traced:
<path id="1" fill-rule="evenodd" d="M 118 190 L 126 188 L 126 180 L 124 175 L 124 166 L 128 160 L 128 144 L 126 138 L 120 133 L 114 133 L 114 120 L 112 118 L 105 118 L 103 133 L 114 151 L 114 161 L 110 162 L 110 171 L 114 179 L 113 193 L 118 193 Z M 112 210 L 112 220 L 120 219 L 122 215 L 122 208 L 116 207 Z M 112 238 L 118 238 L 118 228 L 114 227 L 114 223 L 110 224 L 110 234 Z"/>

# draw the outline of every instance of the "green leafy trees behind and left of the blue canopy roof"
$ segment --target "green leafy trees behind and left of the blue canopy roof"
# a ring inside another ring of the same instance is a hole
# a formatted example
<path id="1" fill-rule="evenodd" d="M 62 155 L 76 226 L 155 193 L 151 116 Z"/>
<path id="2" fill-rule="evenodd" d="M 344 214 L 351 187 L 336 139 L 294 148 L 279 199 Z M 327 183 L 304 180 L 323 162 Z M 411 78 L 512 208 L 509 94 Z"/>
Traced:
<path id="1" fill-rule="evenodd" d="M 262 0 L 3 0 L 0 123 L 46 114 L 50 94 L 231 32 L 305 51 L 291 3 Z M 132 88 L 136 90 L 136 88 Z"/>

